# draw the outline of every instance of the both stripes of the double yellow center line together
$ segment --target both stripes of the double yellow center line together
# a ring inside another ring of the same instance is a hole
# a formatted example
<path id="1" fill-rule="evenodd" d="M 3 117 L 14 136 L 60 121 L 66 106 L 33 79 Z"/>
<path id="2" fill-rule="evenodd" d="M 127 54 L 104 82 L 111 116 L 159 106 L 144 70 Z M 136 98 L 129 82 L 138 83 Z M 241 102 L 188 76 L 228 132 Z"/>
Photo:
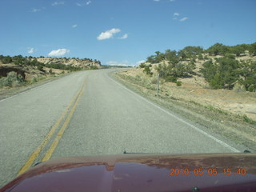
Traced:
<path id="1" fill-rule="evenodd" d="M 57 122 L 55 122 L 54 126 L 50 129 L 49 133 L 46 135 L 46 137 L 43 139 L 43 141 L 40 143 L 38 148 L 34 150 L 33 154 L 30 155 L 30 158 L 26 161 L 24 166 L 22 166 L 22 169 L 18 171 L 18 175 L 23 174 L 26 170 L 32 166 L 34 160 L 38 158 L 38 155 L 42 152 L 43 148 L 46 146 L 47 142 L 49 142 L 50 138 L 54 135 L 55 131 L 58 129 L 59 125 L 63 121 L 63 119 L 66 117 L 67 112 L 69 111 L 70 107 L 72 106 L 72 109 L 70 110 L 70 113 L 68 114 L 65 122 L 62 125 L 62 128 L 58 131 L 57 136 L 54 138 L 54 142 L 52 142 L 49 150 L 47 150 L 44 158 L 42 158 L 42 162 L 45 162 L 50 159 L 51 155 L 54 153 L 54 150 L 56 146 L 58 146 L 59 140 L 62 138 L 62 135 L 64 134 L 64 131 L 66 130 L 66 127 L 69 125 L 70 120 L 74 114 L 74 110 L 76 106 L 78 105 L 78 101 L 82 97 L 82 93 L 84 92 L 86 85 L 86 81 L 82 83 L 82 87 L 80 90 L 78 90 L 78 93 L 74 95 L 74 97 L 71 99 L 70 104 L 66 107 L 62 115 L 58 118 Z"/>

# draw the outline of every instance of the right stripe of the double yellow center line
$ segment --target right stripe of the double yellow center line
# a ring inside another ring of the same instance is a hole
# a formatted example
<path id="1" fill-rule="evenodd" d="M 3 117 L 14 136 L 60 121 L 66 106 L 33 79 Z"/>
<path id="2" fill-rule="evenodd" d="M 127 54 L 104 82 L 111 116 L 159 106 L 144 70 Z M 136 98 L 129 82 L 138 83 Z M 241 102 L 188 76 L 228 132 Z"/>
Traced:
<path id="1" fill-rule="evenodd" d="M 80 94 L 78 95 L 78 98 L 77 98 L 76 102 L 74 103 L 74 106 L 70 110 L 70 114 L 67 116 L 66 121 L 63 123 L 62 128 L 58 131 L 58 134 L 57 134 L 56 138 L 54 139 L 54 142 L 51 144 L 49 150 L 47 150 L 45 157 L 42 158 L 42 162 L 49 160 L 51 155 L 54 153 L 55 148 L 58 146 L 59 140 L 62 138 L 62 135 L 64 134 L 64 131 L 66 130 L 66 127 L 70 123 L 70 120 L 74 114 L 74 110 L 75 110 L 76 106 L 78 105 L 80 98 L 82 97 L 83 91 L 84 91 L 84 87 L 80 91 Z"/>

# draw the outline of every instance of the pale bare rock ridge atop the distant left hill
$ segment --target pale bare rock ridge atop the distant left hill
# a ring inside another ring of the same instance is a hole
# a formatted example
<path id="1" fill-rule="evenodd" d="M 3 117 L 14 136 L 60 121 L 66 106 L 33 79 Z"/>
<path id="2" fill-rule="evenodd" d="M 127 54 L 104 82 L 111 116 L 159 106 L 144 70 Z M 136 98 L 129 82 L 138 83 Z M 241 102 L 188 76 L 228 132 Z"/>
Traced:
<path id="1" fill-rule="evenodd" d="M 50 63 L 61 63 L 66 66 L 75 66 L 82 69 L 90 68 L 91 66 L 97 66 L 101 68 L 101 62 L 97 60 L 92 60 L 88 58 L 36 58 L 38 62 L 42 62 L 43 64 L 50 64 Z"/>

